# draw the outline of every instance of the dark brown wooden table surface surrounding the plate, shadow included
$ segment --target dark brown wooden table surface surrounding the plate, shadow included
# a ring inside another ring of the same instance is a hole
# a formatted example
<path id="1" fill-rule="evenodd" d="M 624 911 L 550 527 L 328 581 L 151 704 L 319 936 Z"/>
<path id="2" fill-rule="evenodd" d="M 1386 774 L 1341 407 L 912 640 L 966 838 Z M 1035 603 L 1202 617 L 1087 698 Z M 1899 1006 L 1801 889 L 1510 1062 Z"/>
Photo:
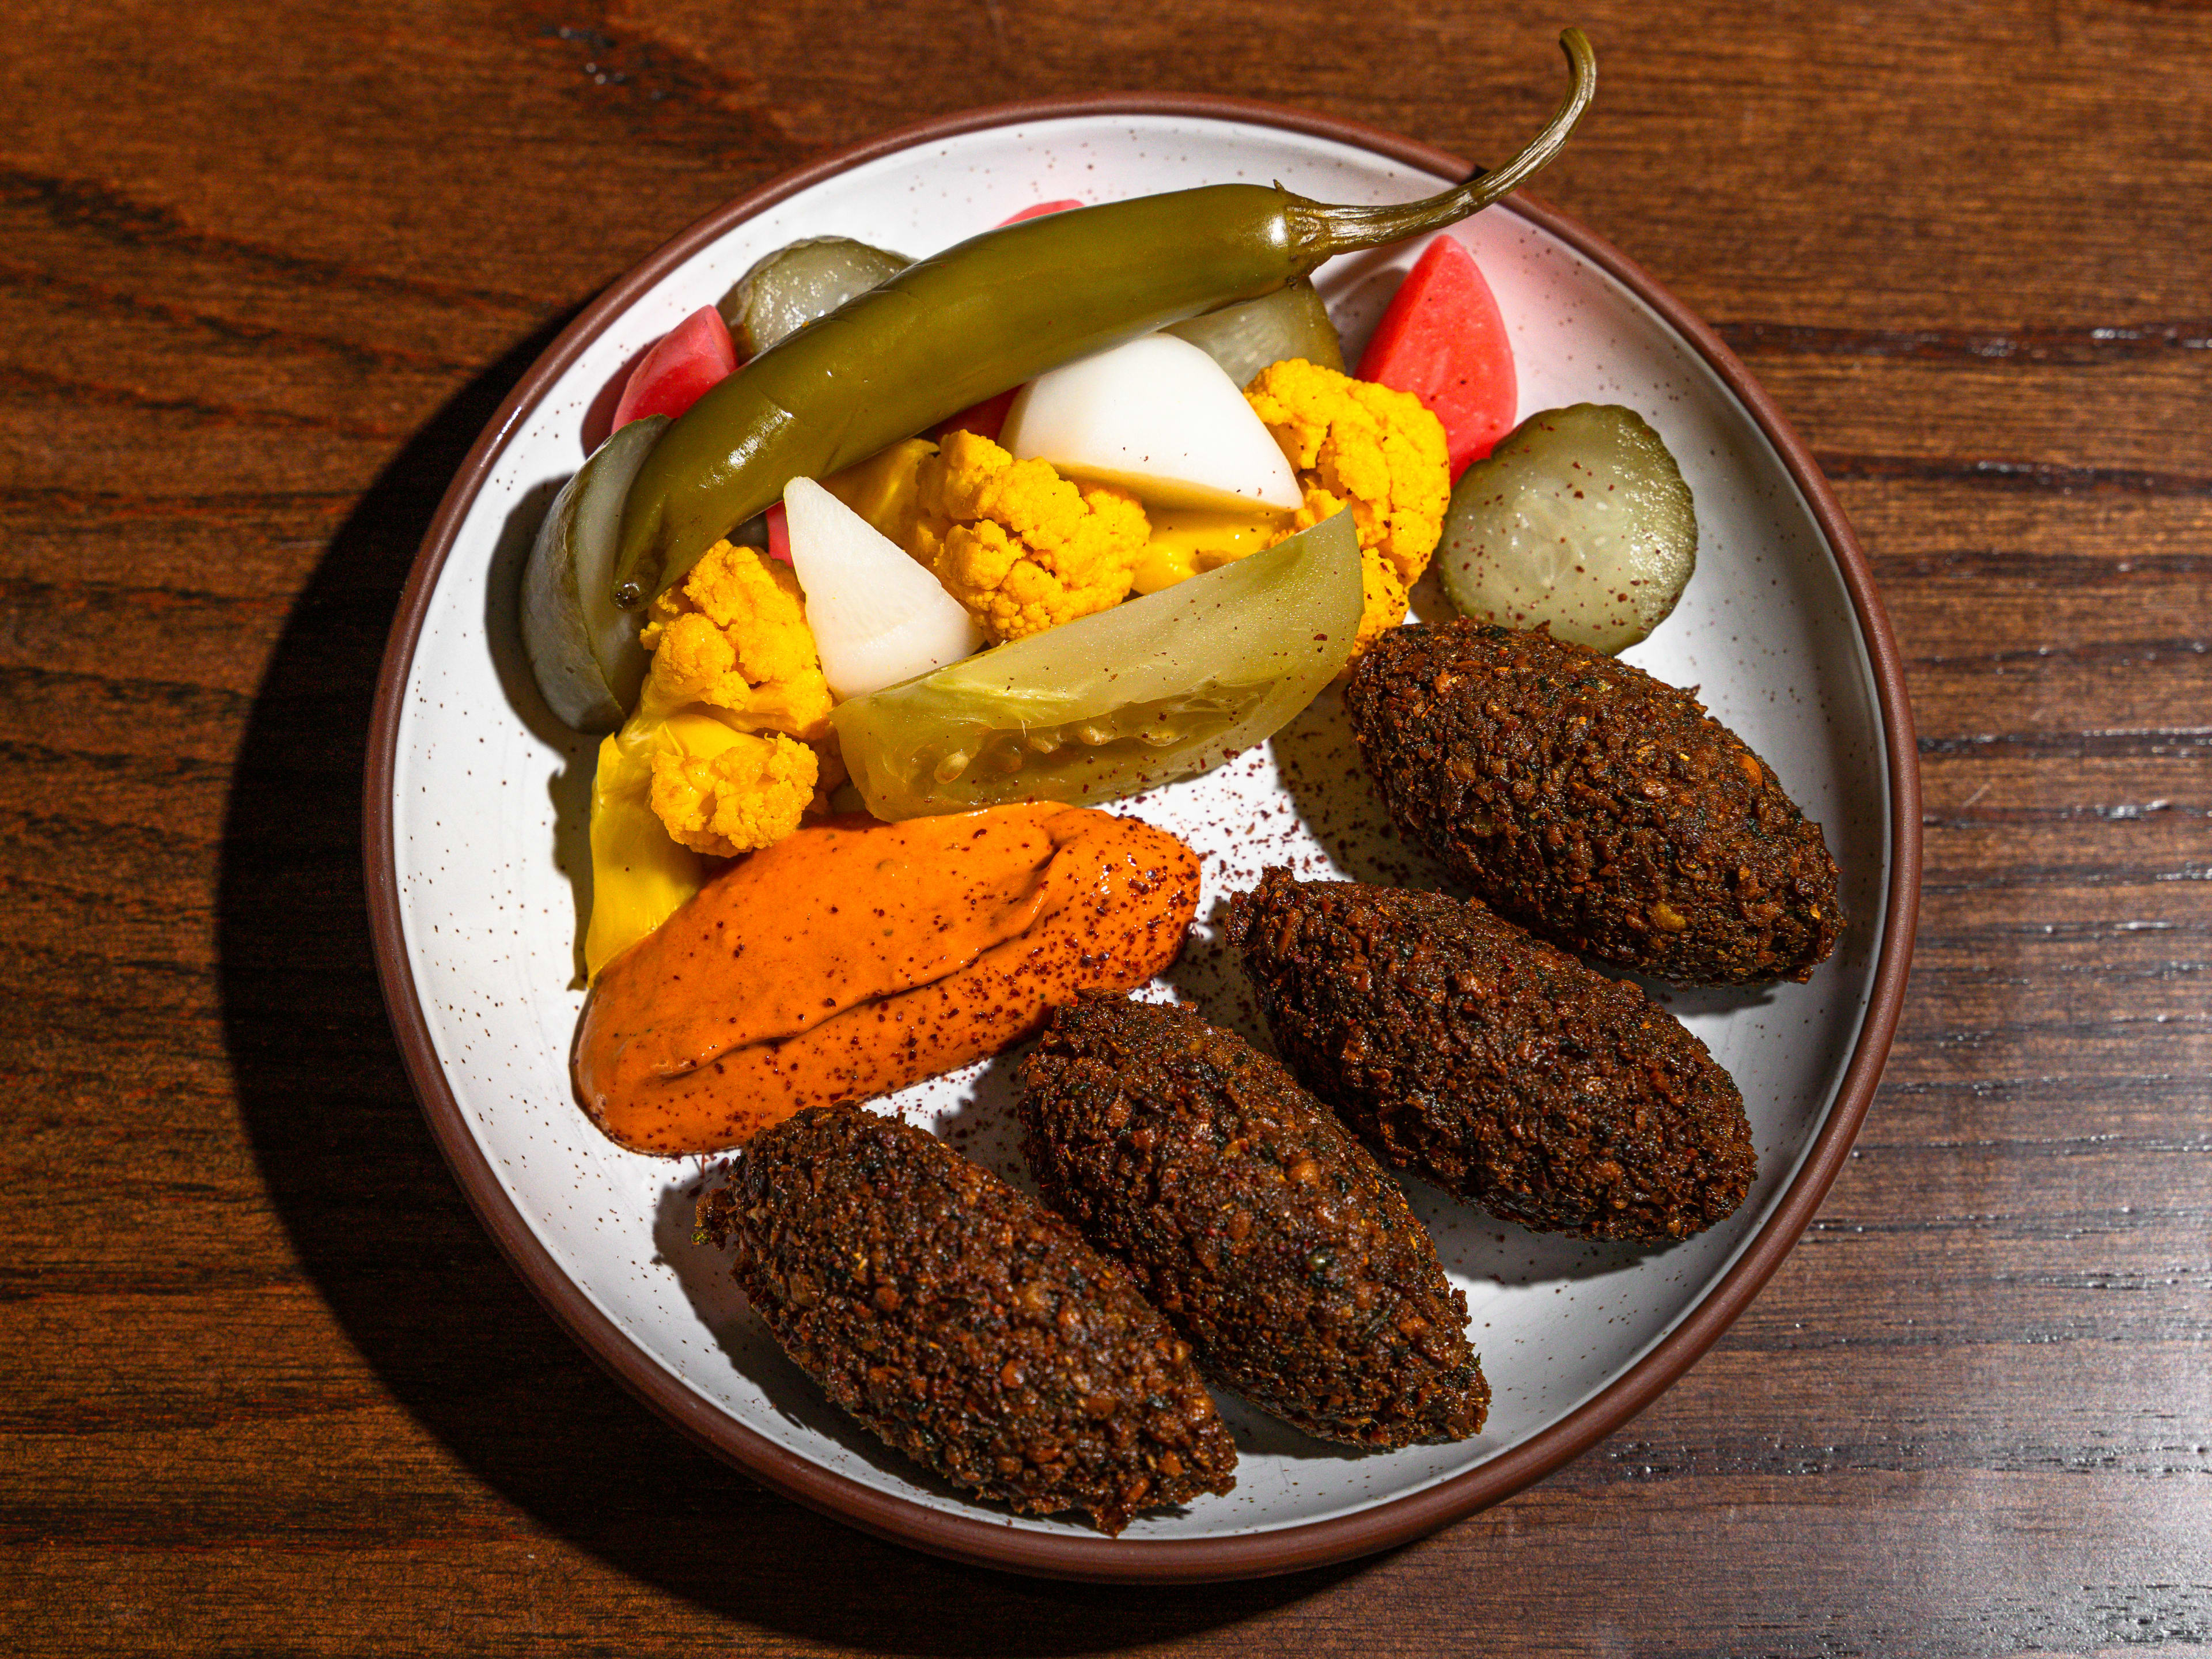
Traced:
<path id="1" fill-rule="evenodd" d="M 0 1641 L 22 1652 L 2212 1652 L 2212 11 L 1590 0 L 1542 192 L 1816 449 L 1927 900 L 1803 1248 L 1391 1557 L 942 1566 L 635 1407 L 460 1199 L 361 898 L 369 692 L 522 367 L 889 124 L 1225 91 L 1495 157 L 1544 7 L 33 0 L 0 58 Z"/>

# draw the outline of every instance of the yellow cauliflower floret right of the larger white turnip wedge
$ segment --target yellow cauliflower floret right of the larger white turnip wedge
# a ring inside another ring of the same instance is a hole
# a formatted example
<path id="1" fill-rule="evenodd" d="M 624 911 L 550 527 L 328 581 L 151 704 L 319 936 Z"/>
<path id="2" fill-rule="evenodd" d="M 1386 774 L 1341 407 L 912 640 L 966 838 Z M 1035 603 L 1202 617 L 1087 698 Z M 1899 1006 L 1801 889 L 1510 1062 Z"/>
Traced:
<path id="1" fill-rule="evenodd" d="M 1405 622 L 1407 588 L 1429 568 L 1451 504 L 1444 422 L 1411 392 L 1285 358 L 1261 369 L 1245 400 L 1274 434 L 1305 504 L 1283 535 L 1352 509 L 1360 533 L 1358 648 Z M 1279 538 L 1281 540 L 1281 538 Z"/>

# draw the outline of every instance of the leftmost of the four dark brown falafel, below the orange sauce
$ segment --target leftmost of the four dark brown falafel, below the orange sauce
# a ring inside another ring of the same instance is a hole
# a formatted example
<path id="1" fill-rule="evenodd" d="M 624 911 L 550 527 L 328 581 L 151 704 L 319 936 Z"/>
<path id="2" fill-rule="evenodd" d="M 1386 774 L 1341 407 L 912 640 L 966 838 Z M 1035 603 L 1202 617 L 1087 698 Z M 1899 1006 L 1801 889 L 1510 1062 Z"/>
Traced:
<path id="1" fill-rule="evenodd" d="M 1128 1270 L 909 1124 L 818 1106 L 699 1203 L 823 1391 L 956 1486 L 1031 1515 L 1225 1493 L 1237 1444 Z"/>

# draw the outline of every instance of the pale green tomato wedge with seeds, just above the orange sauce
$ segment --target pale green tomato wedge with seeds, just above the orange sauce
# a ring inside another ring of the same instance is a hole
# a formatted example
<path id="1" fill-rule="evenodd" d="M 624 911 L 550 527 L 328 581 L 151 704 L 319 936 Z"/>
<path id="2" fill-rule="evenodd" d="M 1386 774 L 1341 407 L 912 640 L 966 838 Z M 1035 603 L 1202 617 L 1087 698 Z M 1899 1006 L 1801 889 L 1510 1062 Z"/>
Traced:
<path id="1" fill-rule="evenodd" d="M 838 703 L 878 818 L 1095 805 L 1203 772 L 1283 728 L 1352 657 L 1352 513 L 1051 633 Z"/>

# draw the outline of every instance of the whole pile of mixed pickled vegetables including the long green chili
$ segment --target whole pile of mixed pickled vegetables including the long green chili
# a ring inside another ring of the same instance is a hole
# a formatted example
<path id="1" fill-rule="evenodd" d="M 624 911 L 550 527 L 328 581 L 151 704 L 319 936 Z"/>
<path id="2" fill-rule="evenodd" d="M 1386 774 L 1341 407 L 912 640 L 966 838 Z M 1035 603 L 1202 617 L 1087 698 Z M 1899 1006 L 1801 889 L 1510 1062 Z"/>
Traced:
<path id="1" fill-rule="evenodd" d="M 1053 201 L 925 261 L 816 237 L 670 330 L 524 582 L 549 708 L 604 732 L 588 975 L 834 812 L 1097 805 L 1265 741 L 1440 544 L 1480 615 L 1606 648 L 1663 617 L 1694 562 L 1672 460 L 1628 411 L 1500 445 L 1513 352 L 1460 241 L 1356 374 L 1310 279 L 1542 166 L 1593 84 L 1562 46 L 1553 122 L 1427 201 Z"/>

